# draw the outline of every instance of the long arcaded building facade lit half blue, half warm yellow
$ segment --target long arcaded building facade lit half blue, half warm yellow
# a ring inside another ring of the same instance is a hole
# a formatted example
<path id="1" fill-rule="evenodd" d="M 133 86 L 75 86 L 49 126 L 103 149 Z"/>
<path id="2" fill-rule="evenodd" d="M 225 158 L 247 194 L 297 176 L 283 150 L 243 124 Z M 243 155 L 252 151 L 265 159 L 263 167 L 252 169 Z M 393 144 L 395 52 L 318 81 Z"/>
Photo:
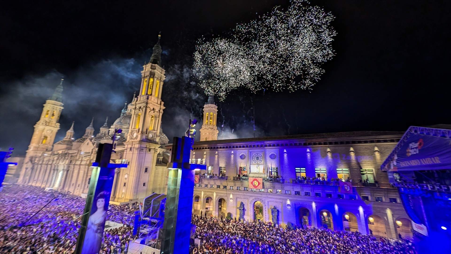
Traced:
<path id="1" fill-rule="evenodd" d="M 410 219 L 380 170 L 401 136 L 339 132 L 196 142 L 191 162 L 204 163 L 208 172 L 195 184 L 193 213 L 230 212 L 238 219 L 243 210 L 246 220 L 272 221 L 275 206 L 281 224 L 410 238 Z M 315 177 L 326 181 L 308 180 Z M 331 181 L 348 177 L 350 192 Z M 258 188 L 250 187 L 253 178 L 261 179 Z"/>

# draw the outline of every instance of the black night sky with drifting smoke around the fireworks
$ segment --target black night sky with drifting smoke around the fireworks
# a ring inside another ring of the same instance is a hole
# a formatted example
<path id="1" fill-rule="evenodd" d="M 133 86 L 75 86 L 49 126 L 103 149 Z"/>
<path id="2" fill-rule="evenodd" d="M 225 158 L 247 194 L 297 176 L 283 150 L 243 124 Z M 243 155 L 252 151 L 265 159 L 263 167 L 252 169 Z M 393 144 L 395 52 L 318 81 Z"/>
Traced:
<path id="1" fill-rule="evenodd" d="M 336 16 L 336 56 L 323 66 L 326 73 L 311 93 L 233 92 L 218 103 L 224 137 L 253 135 L 253 105 L 257 136 L 451 123 L 449 1 L 311 3 Z M 24 153 L 62 76 L 56 140 L 72 121 L 77 137 L 92 117 L 97 131 L 106 116 L 111 124 L 139 89 L 158 31 L 167 72 L 163 130 L 170 138 L 183 135 L 206 101 L 189 73 L 195 40 L 275 5 L 288 1 L 9 1 L 0 9 L 0 149 Z"/>

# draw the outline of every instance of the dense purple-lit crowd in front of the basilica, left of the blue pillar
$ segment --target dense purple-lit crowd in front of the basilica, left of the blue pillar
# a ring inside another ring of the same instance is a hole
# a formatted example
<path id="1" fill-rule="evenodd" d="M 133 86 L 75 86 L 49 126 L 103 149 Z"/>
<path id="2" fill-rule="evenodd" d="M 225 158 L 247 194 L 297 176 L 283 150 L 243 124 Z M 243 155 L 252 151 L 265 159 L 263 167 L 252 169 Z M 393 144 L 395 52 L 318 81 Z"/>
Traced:
<path id="1" fill-rule="evenodd" d="M 71 254 L 85 199 L 33 186 L 9 185 L 0 192 L 0 253 Z M 105 230 L 101 254 L 126 253 L 138 204 L 110 205 L 107 220 L 124 226 Z"/>

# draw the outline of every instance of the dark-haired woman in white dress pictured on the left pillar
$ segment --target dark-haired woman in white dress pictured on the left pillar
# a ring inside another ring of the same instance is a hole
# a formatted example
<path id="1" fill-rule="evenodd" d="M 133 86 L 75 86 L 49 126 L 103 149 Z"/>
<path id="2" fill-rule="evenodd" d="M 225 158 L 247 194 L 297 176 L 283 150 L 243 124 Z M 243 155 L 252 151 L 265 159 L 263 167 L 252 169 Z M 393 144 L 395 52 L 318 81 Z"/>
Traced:
<path id="1" fill-rule="evenodd" d="M 86 235 L 82 248 L 82 254 L 98 254 L 102 244 L 103 229 L 105 228 L 106 211 L 108 204 L 106 199 L 110 193 L 101 192 L 96 197 L 96 206 L 87 222 Z"/>

